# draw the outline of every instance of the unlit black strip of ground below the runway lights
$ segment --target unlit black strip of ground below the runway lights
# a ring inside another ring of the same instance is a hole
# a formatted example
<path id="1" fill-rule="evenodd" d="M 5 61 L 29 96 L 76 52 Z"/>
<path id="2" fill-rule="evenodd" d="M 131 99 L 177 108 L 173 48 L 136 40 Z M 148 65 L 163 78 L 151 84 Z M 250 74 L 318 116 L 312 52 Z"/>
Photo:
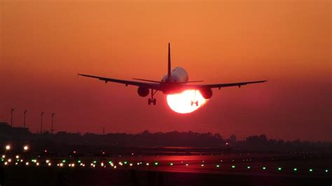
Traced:
<path id="1" fill-rule="evenodd" d="M 6 170 L 2 185 L 331 185 L 331 178 L 110 169 Z"/>

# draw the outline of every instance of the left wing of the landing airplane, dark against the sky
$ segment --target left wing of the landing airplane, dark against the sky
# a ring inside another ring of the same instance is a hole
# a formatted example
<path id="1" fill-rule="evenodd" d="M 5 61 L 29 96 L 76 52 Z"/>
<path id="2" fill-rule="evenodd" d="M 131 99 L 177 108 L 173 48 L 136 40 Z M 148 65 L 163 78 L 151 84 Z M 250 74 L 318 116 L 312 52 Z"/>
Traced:
<path id="1" fill-rule="evenodd" d="M 88 78 L 96 78 L 96 79 L 104 81 L 105 83 L 114 82 L 114 83 L 125 84 L 126 86 L 127 85 L 133 85 L 133 86 L 145 87 L 145 88 L 153 89 L 153 90 L 161 90 L 160 83 L 143 83 L 143 82 L 137 82 L 137 81 L 132 81 L 132 80 L 118 80 L 118 79 L 113 79 L 113 78 L 91 76 L 91 75 L 82 74 L 82 73 L 78 73 L 78 76 L 84 76 L 84 77 L 88 77 Z"/>

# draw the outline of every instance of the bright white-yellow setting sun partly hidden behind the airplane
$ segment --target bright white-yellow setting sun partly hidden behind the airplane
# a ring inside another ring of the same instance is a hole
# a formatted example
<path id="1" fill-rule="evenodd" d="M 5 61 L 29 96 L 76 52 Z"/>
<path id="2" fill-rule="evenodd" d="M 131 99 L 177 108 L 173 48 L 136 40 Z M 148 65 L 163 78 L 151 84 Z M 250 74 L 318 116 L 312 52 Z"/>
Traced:
<path id="1" fill-rule="evenodd" d="M 174 112 L 185 114 L 198 110 L 207 103 L 207 99 L 198 90 L 185 90 L 180 94 L 167 95 L 167 103 Z"/>

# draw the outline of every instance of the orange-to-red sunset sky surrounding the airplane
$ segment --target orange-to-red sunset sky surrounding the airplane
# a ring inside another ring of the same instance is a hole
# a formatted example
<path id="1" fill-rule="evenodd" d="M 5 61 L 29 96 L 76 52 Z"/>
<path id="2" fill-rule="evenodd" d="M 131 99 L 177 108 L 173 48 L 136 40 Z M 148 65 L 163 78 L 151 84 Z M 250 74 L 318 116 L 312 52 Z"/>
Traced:
<path id="1" fill-rule="evenodd" d="M 29 110 L 32 131 L 43 110 L 57 113 L 57 130 L 332 140 L 331 1 L 0 0 L 0 6 L 0 120 L 15 107 L 17 125 Z M 76 76 L 160 80 L 168 42 L 172 65 L 184 67 L 190 80 L 269 82 L 214 90 L 204 108 L 179 115 L 160 93 L 158 105 L 148 106 L 136 87 Z"/>

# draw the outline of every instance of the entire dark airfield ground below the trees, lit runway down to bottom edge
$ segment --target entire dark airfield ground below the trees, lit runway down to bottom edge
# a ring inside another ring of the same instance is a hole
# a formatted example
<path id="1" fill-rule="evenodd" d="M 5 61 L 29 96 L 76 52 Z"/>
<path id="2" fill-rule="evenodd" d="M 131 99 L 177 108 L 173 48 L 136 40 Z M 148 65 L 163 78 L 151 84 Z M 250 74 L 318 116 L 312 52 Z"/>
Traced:
<path id="1" fill-rule="evenodd" d="M 8 158 L 5 158 L 4 162 L 8 164 L 4 165 L 3 162 L 0 166 L 1 186 L 332 185 L 331 155 L 313 152 L 132 155 L 106 159 L 38 157 L 29 161 L 28 166 L 25 161 L 14 164 L 14 159 L 8 162 Z M 47 159 L 52 161 L 51 166 L 46 164 Z M 63 165 L 60 166 L 60 163 Z M 71 164 L 75 166 L 69 166 Z"/>

